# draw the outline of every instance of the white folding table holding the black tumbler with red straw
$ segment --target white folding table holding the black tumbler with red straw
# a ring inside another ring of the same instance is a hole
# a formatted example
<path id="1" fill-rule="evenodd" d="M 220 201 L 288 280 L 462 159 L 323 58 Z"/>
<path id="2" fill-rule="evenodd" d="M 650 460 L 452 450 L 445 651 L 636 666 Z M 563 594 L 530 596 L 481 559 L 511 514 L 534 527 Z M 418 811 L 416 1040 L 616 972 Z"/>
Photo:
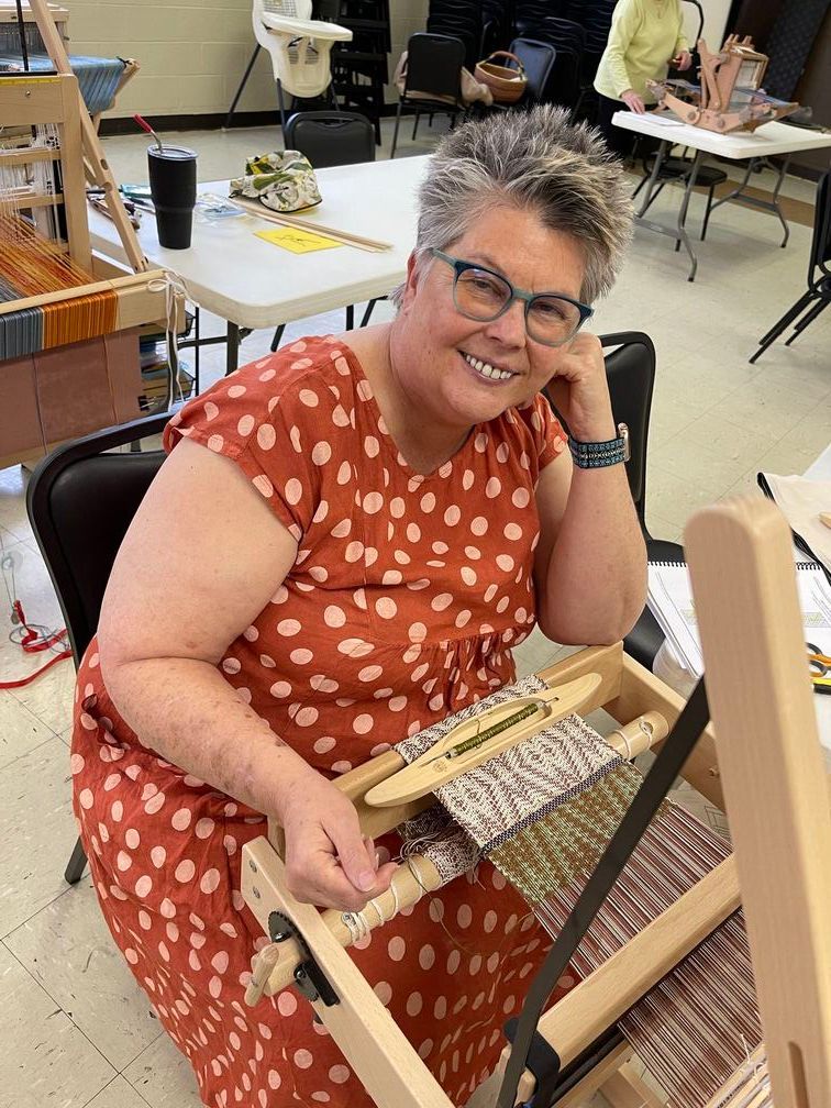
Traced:
<path id="1" fill-rule="evenodd" d="M 256 215 L 214 222 L 197 215 L 189 249 L 171 250 L 158 245 L 155 218 L 145 213 L 138 242 L 154 266 L 181 278 L 188 299 L 227 321 L 230 372 L 249 331 L 386 296 L 404 279 L 427 162 L 427 156 L 401 157 L 318 170 L 322 203 L 298 213 L 309 223 L 390 243 L 388 250 L 338 246 L 291 254 L 257 237 L 255 232 L 276 225 Z M 228 182 L 213 181 L 198 192 L 227 197 Z M 94 250 L 126 260 L 114 224 L 92 208 L 90 237 Z"/>

